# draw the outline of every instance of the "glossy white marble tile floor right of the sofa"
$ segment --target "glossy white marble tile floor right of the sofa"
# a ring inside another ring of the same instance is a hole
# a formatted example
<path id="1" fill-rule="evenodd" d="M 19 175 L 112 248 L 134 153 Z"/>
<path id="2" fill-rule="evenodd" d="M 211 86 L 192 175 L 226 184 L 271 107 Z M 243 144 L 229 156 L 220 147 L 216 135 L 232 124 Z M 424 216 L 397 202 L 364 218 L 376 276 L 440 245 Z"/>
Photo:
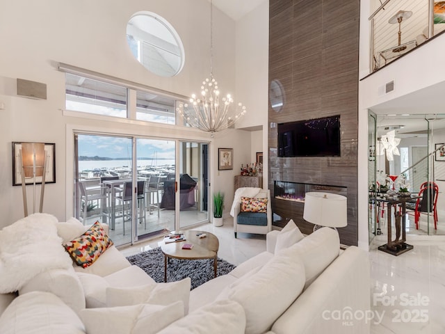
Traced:
<path id="1" fill-rule="evenodd" d="M 371 333 L 445 333 L 445 238 L 407 235 L 414 248 L 394 256 L 378 250 L 385 235 L 375 237 L 371 260 L 371 308 L 383 315 Z"/>

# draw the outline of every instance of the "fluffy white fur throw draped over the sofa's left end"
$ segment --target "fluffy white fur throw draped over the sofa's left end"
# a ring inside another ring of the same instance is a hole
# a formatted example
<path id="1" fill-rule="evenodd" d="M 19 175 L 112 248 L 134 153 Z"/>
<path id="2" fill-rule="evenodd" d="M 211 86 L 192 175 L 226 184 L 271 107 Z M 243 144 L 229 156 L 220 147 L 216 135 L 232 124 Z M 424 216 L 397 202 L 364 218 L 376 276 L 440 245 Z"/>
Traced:
<path id="1" fill-rule="evenodd" d="M 15 292 L 38 273 L 72 267 L 57 218 L 31 214 L 0 231 L 0 293 Z"/>

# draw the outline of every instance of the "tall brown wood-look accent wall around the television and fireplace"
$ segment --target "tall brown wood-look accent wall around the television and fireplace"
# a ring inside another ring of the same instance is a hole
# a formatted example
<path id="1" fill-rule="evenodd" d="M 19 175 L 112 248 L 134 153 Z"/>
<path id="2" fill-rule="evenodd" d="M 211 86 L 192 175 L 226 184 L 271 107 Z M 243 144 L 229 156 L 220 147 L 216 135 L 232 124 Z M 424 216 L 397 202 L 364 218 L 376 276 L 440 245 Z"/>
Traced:
<path id="1" fill-rule="evenodd" d="M 269 127 L 268 188 L 273 198 L 275 180 L 346 186 L 348 226 L 339 234 L 357 245 L 359 0 L 269 3 L 269 84 L 280 80 L 285 91 L 280 113 L 269 104 L 269 125 L 340 115 L 341 157 L 277 157 L 277 127 Z M 302 203 L 273 199 L 272 208 L 312 232 Z"/>

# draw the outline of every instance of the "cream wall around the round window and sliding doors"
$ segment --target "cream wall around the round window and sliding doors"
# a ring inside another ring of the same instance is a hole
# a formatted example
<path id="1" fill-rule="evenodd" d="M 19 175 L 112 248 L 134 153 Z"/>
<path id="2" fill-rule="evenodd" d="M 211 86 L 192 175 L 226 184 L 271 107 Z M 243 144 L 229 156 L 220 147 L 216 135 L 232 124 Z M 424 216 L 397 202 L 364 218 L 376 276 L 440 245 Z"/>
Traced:
<path id="1" fill-rule="evenodd" d="M 3 45 L 0 52 L 0 102 L 4 104 L 4 109 L 0 110 L 0 228 L 23 216 L 22 189 L 13 187 L 11 180 L 13 141 L 56 143 L 56 184 L 45 187 L 44 212 L 54 214 L 59 220 L 69 218 L 72 212 L 73 129 L 102 129 L 117 134 L 149 136 L 165 136 L 167 133 L 171 138 L 209 141 L 211 148 L 216 150 L 211 156 L 213 190 L 233 192 L 235 167 L 250 158 L 250 135 L 229 130 L 210 138 L 209 134 L 168 125 L 64 116 L 65 76 L 56 69 L 58 62 L 67 63 L 188 96 L 199 88 L 210 72 L 208 1 L 0 0 L 0 8 Z M 126 24 L 139 10 L 161 15 L 181 36 L 186 63 L 176 77 L 150 74 L 131 55 L 125 39 Z M 235 92 L 238 66 L 234 64 L 240 59 L 236 56 L 236 26 L 232 19 L 214 8 L 213 29 L 214 77 L 223 93 Z M 242 28 L 241 31 L 248 38 L 248 29 Z M 264 69 L 267 72 L 266 68 L 267 65 Z M 250 77 L 251 70 L 245 70 L 244 74 Z M 17 97 L 17 78 L 47 84 L 47 100 Z M 267 105 L 260 108 L 259 102 L 250 97 L 252 92 L 257 94 L 264 89 L 262 81 L 264 76 L 251 81 L 251 90 L 242 94 L 245 104 L 254 101 L 249 109 L 255 113 L 264 109 L 267 113 Z M 235 148 L 233 172 L 218 173 L 218 157 L 214 154 L 218 147 Z M 227 195 L 233 196 L 231 193 Z M 229 211 L 227 202 L 226 211 Z"/>

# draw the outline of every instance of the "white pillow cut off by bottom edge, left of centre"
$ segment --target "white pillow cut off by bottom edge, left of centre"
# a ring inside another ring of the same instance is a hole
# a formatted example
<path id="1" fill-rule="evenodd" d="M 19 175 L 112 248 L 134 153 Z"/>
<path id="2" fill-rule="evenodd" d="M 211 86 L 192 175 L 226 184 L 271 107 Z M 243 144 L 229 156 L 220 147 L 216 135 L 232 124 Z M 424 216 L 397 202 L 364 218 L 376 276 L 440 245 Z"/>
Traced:
<path id="1" fill-rule="evenodd" d="M 80 317 L 88 334 L 151 334 L 184 317 L 184 305 L 177 301 L 166 306 L 138 304 L 89 308 L 81 310 Z"/>

